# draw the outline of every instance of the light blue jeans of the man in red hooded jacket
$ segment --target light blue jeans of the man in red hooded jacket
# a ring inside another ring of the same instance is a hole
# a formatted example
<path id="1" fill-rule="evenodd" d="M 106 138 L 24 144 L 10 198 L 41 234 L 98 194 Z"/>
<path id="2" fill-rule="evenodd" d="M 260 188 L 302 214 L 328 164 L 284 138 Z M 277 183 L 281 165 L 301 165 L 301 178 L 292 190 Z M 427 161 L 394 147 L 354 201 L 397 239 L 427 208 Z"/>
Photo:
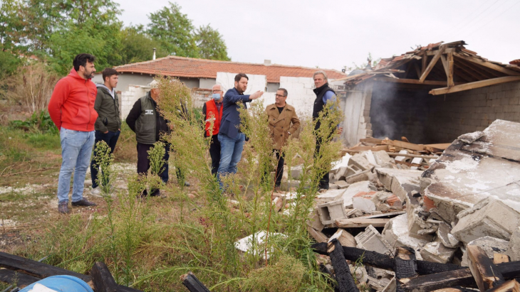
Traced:
<path id="1" fill-rule="evenodd" d="M 94 131 L 73 131 L 61 128 L 61 169 L 58 178 L 58 202 L 68 202 L 71 190 L 71 175 L 74 172 L 72 201 L 83 199 L 85 175 L 90 164 Z"/>

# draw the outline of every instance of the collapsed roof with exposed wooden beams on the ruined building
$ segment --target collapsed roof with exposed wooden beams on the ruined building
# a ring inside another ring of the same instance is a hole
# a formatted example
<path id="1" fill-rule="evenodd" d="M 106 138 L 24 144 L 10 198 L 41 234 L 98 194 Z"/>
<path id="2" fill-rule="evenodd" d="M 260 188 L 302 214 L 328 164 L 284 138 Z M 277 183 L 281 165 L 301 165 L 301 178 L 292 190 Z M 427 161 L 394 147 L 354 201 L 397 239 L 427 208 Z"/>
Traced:
<path id="1" fill-rule="evenodd" d="M 464 40 L 432 43 L 400 56 L 382 59 L 373 70 L 364 70 L 339 80 L 344 80 L 348 87 L 368 80 L 441 87 L 430 90 L 433 95 L 520 81 L 518 63 L 490 61 L 467 50 L 464 45 Z"/>

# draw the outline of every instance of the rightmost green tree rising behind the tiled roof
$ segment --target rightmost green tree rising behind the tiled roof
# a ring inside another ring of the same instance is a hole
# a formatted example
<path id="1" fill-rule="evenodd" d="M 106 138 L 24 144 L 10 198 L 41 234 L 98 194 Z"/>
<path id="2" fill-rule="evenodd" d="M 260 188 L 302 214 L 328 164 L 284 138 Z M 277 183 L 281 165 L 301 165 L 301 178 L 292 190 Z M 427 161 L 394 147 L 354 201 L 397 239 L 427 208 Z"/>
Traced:
<path id="1" fill-rule="evenodd" d="M 209 24 L 201 26 L 195 34 L 195 41 L 199 48 L 199 57 L 210 60 L 229 61 L 227 46 L 219 31 L 213 29 Z"/>

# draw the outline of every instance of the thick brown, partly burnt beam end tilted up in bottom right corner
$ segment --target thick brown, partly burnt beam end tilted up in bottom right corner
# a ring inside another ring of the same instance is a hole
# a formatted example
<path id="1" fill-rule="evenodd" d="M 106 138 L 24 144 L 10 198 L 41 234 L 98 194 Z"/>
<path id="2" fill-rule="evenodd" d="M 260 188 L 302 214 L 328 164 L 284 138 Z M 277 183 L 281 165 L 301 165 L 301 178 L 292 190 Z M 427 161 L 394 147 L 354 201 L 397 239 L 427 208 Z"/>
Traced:
<path id="1" fill-rule="evenodd" d="M 467 256 L 469 261 L 469 270 L 472 271 L 473 278 L 479 286 L 481 292 L 504 283 L 504 276 L 500 273 L 493 261 L 487 257 L 482 247 L 476 245 L 467 246 Z"/>

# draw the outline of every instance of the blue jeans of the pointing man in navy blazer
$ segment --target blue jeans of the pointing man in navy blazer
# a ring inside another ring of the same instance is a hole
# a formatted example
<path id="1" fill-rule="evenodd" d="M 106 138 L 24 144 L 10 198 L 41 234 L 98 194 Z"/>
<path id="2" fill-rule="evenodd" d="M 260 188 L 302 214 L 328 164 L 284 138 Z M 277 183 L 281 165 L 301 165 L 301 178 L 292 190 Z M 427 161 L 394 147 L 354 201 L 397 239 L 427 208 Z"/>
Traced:
<path id="1" fill-rule="evenodd" d="M 219 134 L 218 137 L 220 142 L 220 165 L 217 179 L 222 188 L 220 175 L 236 173 L 236 164 L 239 163 L 240 158 L 242 157 L 242 150 L 244 149 L 246 136 L 244 133 L 239 133 L 234 139 L 224 134 Z"/>

